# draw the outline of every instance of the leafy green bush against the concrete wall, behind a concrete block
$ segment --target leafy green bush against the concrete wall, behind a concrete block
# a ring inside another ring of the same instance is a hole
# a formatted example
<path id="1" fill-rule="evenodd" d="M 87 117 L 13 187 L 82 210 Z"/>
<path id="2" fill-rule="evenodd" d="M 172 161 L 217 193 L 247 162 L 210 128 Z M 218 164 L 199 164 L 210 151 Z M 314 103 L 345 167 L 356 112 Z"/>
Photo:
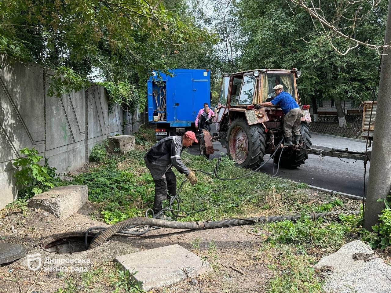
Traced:
<path id="1" fill-rule="evenodd" d="M 25 157 L 14 160 L 14 166 L 18 169 L 14 174 L 16 185 L 21 186 L 18 196 L 28 200 L 34 195 L 54 188 L 59 182 L 59 179 L 54 178 L 56 168 L 49 167 L 47 160 L 45 165 L 41 166 L 39 162 L 43 157 L 38 155 L 38 150 L 35 148 L 23 148 L 20 153 Z"/>

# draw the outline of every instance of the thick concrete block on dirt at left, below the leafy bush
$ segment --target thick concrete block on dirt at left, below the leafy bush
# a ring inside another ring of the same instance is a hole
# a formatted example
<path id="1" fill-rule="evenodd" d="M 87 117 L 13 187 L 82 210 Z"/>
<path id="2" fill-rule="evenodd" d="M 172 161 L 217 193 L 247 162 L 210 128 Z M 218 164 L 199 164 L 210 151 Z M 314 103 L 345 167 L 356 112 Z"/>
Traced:
<path id="1" fill-rule="evenodd" d="M 29 200 L 29 207 L 36 207 L 65 219 L 76 213 L 88 200 L 87 185 L 59 186 Z"/>

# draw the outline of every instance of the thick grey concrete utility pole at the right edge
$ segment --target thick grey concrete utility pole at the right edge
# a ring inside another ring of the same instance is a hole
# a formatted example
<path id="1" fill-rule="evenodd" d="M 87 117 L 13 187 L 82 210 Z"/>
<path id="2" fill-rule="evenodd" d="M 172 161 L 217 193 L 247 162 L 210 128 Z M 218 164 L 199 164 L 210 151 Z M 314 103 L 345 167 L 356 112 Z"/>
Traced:
<path id="1" fill-rule="evenodd" d="M 391 0 L 388 3 L 386 45 L 391 45 Z M 391 189 L 391 48 L 384 48 L 380 69 L 379 93 L 373 133 L 371 166 L 365 204 L 364 228 L 372 230 L 378 223 L 378 214 L 384 202 L 377 202 L 389 195 Z"/>

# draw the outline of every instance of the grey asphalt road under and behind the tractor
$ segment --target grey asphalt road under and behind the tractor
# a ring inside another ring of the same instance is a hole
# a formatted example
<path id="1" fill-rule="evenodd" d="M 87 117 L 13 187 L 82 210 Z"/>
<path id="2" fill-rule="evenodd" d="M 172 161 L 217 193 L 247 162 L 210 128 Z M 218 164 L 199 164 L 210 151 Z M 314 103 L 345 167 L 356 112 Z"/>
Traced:
<path id="1" fill-rule="evenodd" d="M 213 132 L 213 129 L 212 129 Z M 355 151 L 365 151 L 365 141 L 352 141 L 345 138 L 333 138 L 323 136 L 320 134 L 311 134 L 312 148 L 317 149 L 330 149 L 339 148 Z M 213 143 L 215 149 L 219 152 L 215 152 L 210 155 L 210 159 L 215 157 L 221 157 L 226 154 L 226 149 L 218 142 Z M 191 154 L 199 154 L 198 145 L 194 145 L 189 148 Z M 269 159 L 269 155 L 265 155 L 264 160 Z M 341 161 L 334 157 L 319 158 L 317 155 L 309 155 L 305 164 L 294 170 L 280 168 L 277 173 L 278 177 L 291 179 L 296 182 L 304 182 L 308 185 L 317 186 L 320 188 L 330 189 L 337 192 L 348 193 L 362 197 L 363 195 L 363 180 L 364 180 L 364 162 L 351 159 L 343 159 Z M 276 165 L 273 163 L 273 159 L 265 164 L 260 169 L 260 172 L 273 174 L 276 171 Z M 366 172 L 366 186 L 368 186 L 368 173 L 369 162 L 367 163 Z"/>

